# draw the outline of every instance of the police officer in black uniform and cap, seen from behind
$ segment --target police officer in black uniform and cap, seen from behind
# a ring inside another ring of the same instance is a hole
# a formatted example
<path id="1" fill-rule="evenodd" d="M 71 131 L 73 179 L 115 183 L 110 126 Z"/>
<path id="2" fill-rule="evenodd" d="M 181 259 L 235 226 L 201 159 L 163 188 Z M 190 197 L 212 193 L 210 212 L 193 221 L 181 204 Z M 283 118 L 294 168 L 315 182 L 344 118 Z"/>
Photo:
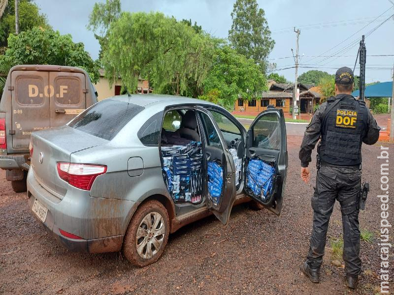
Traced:
<path id="1" fill-rule="evenodd" d="M 316 188 L 312 197 L 313 230 L 307 259 L 301 271 L 314 283 L 320 281 L 329 217 L 335 200 L 341 205 L 343 260 L 349 288 L 355 289 L 361 273 L 359 205 L 361 189 L 361 144 L 373 145 L 379 138 L 376 120 L 365 102 L 352 95 L 354 76 L 348 67 L 335 74 L 335 97 L 330 97 L 306 127 L 299 151 L 301 178 L 308 183 L 312 149 L 318 146 Z"/>

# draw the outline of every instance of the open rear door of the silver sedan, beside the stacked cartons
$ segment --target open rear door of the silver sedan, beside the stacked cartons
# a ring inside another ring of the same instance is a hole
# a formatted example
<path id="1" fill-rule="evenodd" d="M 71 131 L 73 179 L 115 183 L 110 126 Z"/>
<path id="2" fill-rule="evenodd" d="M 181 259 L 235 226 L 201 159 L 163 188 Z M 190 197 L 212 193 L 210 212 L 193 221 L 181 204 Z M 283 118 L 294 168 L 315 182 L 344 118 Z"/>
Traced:
<path id="1" fill-rule="evenodd" d="M 201 133 L 204 134 L 205 202 L 213 214 L 227 225 L 236 198 L 235 166 L 212 114 L 202 107 L 197 107 L 197 110 Z"/>

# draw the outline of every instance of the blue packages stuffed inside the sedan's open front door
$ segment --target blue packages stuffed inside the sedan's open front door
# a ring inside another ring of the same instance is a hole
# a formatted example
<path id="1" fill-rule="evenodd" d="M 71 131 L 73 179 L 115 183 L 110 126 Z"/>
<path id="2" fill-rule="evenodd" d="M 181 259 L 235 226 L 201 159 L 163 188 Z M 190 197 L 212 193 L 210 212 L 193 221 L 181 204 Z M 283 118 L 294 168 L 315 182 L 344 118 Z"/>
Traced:
<path id="1" fill-rule="evenodd" d="M 246 183 L 256 197 L 265 200 L 271 194 L 274 176 L 275 168 L 270 164 L 259 159 L 249 161 Z"/>

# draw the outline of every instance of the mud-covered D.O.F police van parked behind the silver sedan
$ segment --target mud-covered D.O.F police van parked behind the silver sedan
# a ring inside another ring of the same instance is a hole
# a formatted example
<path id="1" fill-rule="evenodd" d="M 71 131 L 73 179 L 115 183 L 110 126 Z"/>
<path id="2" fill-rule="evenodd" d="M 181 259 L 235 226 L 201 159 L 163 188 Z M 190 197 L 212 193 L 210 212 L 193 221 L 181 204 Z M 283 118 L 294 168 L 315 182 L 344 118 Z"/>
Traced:
<path id="1" fill-rule="evenodd" d="M 82 69 L 57 65 L 16 65 L 0 100 L 0 168 L 14 191 L 26 190 L 32 132 L 66 124 L 97 102 Z"/>

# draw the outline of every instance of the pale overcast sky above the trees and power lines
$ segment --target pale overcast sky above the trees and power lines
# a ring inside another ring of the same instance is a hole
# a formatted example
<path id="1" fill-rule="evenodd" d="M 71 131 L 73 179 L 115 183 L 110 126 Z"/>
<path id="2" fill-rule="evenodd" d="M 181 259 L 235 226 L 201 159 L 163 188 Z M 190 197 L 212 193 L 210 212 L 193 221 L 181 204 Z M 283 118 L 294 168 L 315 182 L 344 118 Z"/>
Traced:
<path id="1" fill-rule="evenodd" d="M 193 23 L 197 21 L 197 24 L 210 34 L 226 38 L 231 27 L 230 13 L 234 1 L 122 0 L 122 10 L 161 11 L 178 20 L 191 19 Z M 88 16 L 96 0 L 35 0 L 35 2 L 48 16 L 49 24 L 54 29 L 62 34 L 70 33 L 74 42 L 85 44 L 85 49 L 93 59 L 98 58 L 99 42 L 94 38 L 93 33 L 86 29 Z M 335 73 L 334 68 L 342 65 L 353 69 L 359 48 L 357 40 L 361 39 L 362 34 L 366 35 L 394 14 L 392 7 L 394 0 L 258 0 L 258 3 L 265 11 L 272 38 L 276 42 L 269 59 L 272 59 L 270 62 L 276 62 L 277 69 L 294 66 L 291 49 L 296 49 L 296 33 L 293 27 L 300 28 L 299 53 L 304 54 L 300 64 L 313 68 L 300 68 L 298 74 L 309 69 Z M 374 20 L 378 16 L 380 17 Z M 362 29 L 363 27 L 365 28 Z M 351 46 L 353 43 L 354 46 Z M 365 45 L 366 82 L 391 81 L 394 56 L 371 57 L 371 55 L 394 55 L 394 19 L 389 19 L 366 37 Z M 332 55 L 345 57 L 326 57 Z M 294 81 L 294 68 L 277 72 Z M 355 70 L 355 74 L 359 74 L 358 69 Z"/>

